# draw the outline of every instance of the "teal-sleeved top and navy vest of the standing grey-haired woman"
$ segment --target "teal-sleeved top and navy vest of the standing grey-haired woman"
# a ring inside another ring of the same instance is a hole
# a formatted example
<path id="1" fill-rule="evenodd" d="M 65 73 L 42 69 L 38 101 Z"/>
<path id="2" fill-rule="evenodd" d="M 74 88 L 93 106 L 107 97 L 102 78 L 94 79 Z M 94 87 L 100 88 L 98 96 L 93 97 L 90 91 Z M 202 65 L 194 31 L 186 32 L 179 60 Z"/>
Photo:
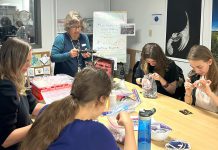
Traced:
<path id="1" fill-rule="evenodd" d="M 73 48 L 90 49 L 87 35 L 80 33 L 79 39 L 76 41 L 72 41 L 67 32 L 59 34 L 55 38 L 51 50 L 51 61 L 55 62 L 54 74 L 67 74 L 74 77 L 78 71 L 78 62 L 82 69 L 85 67 L 85 61 L 91 60 L 91 58 L 83 58 L 81 54 L 79 54 L 79 58 L 70 57 L 70 51 Z"/>

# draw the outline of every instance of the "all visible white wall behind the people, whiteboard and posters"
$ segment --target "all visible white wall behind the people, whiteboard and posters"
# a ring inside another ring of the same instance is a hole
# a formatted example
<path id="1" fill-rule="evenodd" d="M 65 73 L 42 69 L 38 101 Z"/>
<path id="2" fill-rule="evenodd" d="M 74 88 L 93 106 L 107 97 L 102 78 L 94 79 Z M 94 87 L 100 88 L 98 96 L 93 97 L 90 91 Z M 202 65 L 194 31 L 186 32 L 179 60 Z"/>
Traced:
<path id="1" fill-rule="evenodd" d="M 202 7 L 201 44 L 210 48 L 212 0 L 202 0 L 202 3 L 204 6 Z M 56 7 L 61 12 L 58 15 L 55 12 Z M 66 12 L 73 8 L 78 9 L 83 17 L 92 17 L 93 11 L 126 10 L 128 22 L 136 24 L 136 36 L 128 37 L 127 47 L 141 50 L 145 43 L 156 42 L 165 49 L 167 0 L 137 0 L 137 3 L 132 0 L 67 0 L 65 3 L 60 0 L 41 0 L 42 49 L 38 50 L 51 49 L 56 36 L 56 17 L 63 18 Z M 160 25 L 151 23 L 151 14 L 156 13 L 163 14 Z M 187 75 L 191 69 L 189 64 L 178 60 L 176 63 Z"/>

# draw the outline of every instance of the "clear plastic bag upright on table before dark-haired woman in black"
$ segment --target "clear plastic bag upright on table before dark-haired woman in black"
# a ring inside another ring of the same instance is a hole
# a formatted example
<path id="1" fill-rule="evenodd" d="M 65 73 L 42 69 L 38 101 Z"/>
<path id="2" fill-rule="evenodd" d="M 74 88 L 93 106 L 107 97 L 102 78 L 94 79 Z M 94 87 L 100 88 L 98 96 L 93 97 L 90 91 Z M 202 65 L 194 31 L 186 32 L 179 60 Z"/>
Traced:
<path id="1" fill-rule="evenodd" d="M 142 78 L 143 96 L 148 98 L 157 98 L 157 84 L 150 74 Z"/>

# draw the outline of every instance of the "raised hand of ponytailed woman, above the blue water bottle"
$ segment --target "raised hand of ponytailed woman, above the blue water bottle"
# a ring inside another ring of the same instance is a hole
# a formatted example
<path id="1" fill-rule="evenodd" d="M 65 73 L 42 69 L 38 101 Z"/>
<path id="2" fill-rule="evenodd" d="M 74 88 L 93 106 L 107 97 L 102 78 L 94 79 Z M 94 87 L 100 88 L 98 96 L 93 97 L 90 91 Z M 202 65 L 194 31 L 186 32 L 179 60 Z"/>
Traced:
<path id="1" fill-rule="evenodd" d="M 133 122 L 130 119 L 130 116 L 129 116 L 129 114 L 127 112 L 120 112 L 117 115 L 116 119 L 117 119 L 117 123 L 120 126 L 124 126 L 125 128 L 133 127 Z"/>

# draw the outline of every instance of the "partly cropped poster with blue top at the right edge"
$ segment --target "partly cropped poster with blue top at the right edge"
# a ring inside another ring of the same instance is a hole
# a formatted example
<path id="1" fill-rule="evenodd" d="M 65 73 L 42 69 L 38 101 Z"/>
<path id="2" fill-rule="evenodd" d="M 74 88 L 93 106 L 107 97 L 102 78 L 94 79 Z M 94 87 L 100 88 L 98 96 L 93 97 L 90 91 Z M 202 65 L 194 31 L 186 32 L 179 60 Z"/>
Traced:
<path id="1" fill-rule="evenodd" d="M 213 0 L 211 52 L 218 64 L 218 0 Z"/>

